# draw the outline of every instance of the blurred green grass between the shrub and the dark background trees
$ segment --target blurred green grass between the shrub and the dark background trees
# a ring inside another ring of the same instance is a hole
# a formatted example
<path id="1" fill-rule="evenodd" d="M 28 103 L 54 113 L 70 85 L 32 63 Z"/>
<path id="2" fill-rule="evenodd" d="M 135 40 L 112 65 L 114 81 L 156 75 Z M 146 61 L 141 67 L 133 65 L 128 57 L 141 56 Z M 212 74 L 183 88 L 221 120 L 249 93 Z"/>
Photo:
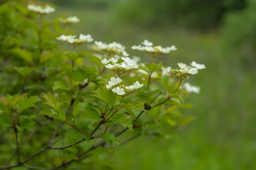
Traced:
<path id="1" fill-rule="evenodd" d="M 223 49 L 218 33 L 173 28 L 142 30 L 114 23 L 111 11 L 59 8 L 58 12 L 81 19 L 72 26 L 76 34 L 91 34 L 103 42 L 120 42 L 127 46 L 128 53 L 142 57 L 143 61 L 147 56 L 130 47 L 148 39 L 155 45 L 177 46 L 177 51 L 160 58 L 166 61 L 166 66 L 176 67 L 177 62 L 195 60 L 207 67 L 189 79 L 201 87 L 201 94 L 192 94 L 188 99 L 193 108 L 184 111 L 195 115 L 195 121 L 178 129 L 172 139 L 141 137 L 117 148 L 111 158 L 116 169 L 256 169 L 256 74 L 242 70 L 241 57 Z"/>

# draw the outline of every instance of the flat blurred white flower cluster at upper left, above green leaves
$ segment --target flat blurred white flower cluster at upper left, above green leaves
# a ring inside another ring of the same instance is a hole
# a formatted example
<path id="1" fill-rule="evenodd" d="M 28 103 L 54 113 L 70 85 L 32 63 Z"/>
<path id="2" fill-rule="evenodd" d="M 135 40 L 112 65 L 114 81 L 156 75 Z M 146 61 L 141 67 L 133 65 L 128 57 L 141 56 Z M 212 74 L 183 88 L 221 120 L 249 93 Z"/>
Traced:
<path id="1" fill-rule="evenodd" d="M 76 38 L 76 35 L 61 35 L 60 37 L 57 37 L 57 40 L 67 42 L 70 44 L 74 44 L 74 43 L 81 44 L 85 42 L 92 42 L 93 38 L 90 34 L 88 35 L 80 34 L 79 38 Z"/>

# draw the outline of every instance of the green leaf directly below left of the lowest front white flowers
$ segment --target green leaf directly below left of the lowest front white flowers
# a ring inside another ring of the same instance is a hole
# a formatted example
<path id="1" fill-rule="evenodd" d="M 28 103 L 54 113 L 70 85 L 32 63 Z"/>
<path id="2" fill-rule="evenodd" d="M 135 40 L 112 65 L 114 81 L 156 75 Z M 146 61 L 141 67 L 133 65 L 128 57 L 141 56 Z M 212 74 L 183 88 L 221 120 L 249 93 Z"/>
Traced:
<path id="1" fill-rule="evenodd" d="M 95 96 L 104 102 L 109 103 L 110 105 L 114 105 L 116 101 L 116 95 L 111 91 L 105 88 L 98 88 L 96 91 L 92 91 L 94 94 L 91 96 Z"/>

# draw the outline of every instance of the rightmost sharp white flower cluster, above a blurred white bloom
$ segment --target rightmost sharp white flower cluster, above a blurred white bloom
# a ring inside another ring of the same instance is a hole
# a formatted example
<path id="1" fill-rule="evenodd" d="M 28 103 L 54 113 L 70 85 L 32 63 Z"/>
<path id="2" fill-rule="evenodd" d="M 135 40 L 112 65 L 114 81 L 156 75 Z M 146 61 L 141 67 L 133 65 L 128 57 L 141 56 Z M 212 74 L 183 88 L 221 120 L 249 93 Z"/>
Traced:
<path id="1" fill-rule="evenodd" d="M 198 69 L 199 70 L 202 70 L 205 68 L 205 65 L 204 64 L 198 64 L 196 63 L 195 61 L 193 61 L 189 66 L 189 65 L 186 65 L 182 62 L 178 62 L 177 65 L 179 66 L 180 68 L 180 72 L 182 73 L 188 73 L 188 74 L 192 74 L 192 75 L 195 75 L 195 74 L 198 74 Z"/>

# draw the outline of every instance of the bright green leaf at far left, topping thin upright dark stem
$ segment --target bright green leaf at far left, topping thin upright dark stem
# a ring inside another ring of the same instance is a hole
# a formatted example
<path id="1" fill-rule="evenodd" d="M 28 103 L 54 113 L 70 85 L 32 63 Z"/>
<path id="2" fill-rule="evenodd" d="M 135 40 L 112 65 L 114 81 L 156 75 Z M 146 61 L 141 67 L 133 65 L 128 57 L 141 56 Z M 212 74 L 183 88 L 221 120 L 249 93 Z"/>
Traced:
<path id="1" fill-rule="evenodd" d="M 22 98 L 17 101 L 17 109 L 20 112 L 24 111 L 26 108 L 35 107 L 35 103 L 39 102 L 41 99 L 38 96 L 30 96 L 29 98 Z"/>

